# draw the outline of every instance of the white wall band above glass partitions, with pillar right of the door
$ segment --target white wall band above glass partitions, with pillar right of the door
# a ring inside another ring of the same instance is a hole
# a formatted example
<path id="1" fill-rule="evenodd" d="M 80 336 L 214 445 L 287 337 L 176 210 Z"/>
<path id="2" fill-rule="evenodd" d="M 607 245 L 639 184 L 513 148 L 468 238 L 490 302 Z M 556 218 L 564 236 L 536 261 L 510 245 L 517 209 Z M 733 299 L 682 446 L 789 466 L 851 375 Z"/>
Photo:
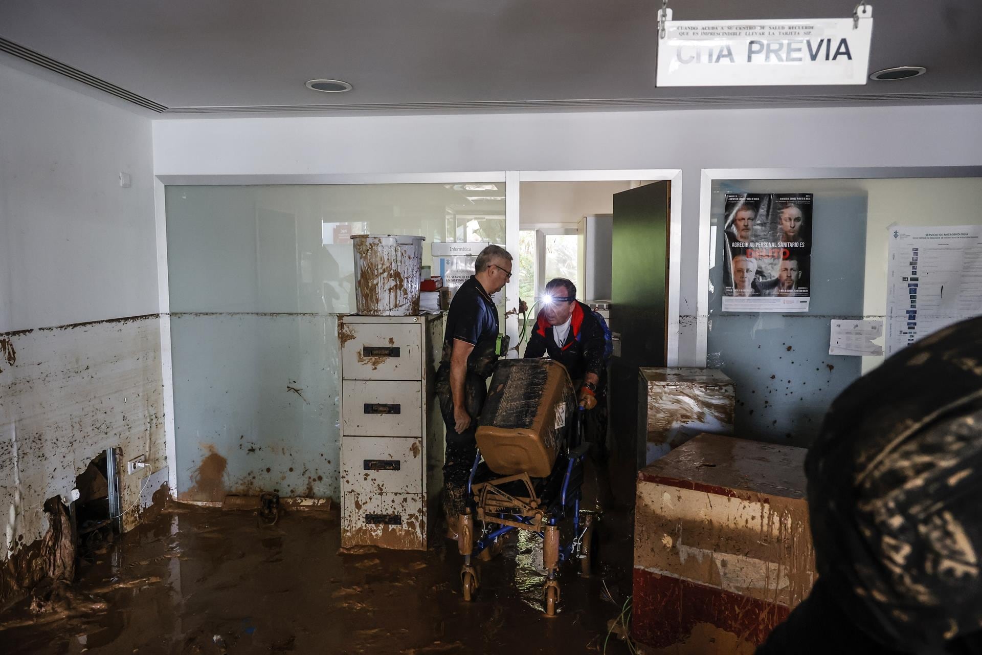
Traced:
<path id="1" fill-rule="evenodd" d="M 154 121 L 156 175 L 682 169 L 680 362 L 703 168 L 982 164 L 982 105 Z"/>

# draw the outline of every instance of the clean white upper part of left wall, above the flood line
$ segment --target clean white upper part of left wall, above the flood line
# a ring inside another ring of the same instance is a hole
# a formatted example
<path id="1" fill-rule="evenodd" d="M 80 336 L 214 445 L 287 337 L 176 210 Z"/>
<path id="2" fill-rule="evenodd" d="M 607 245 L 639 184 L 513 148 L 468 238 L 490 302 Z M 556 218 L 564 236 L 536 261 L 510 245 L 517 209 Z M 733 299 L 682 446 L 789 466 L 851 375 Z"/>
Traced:
<path id="1" fill-rule="evenodd" d="M 0 332 L 156 312 L 150 121 L 2 64 L 0 89 Z"/>

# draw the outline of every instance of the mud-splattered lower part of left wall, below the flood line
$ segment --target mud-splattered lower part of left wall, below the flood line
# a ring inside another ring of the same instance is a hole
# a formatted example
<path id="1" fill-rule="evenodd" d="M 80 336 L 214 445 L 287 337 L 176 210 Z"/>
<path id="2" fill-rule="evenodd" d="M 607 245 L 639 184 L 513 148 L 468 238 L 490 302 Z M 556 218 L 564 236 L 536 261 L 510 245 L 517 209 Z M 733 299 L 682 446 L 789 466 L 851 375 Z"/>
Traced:
<path id="1" fill-rule="evenodd" d="M 21 551 L 51 527 L 45 501 L 67 501 L 106 448 L 121 452 L 124 511 L 141 488 L 145 505 L 146 487 L 166 480 L 159 317 L 22 330 L 0 343 L 0 562 L 23 566 Z M 126 462 L 139 455 L 149 467 L 127 475 Z M 124 529 L 137 512 L 124 514 Z M 12 591 L 10 569 L 0 569 L 0 603 Z"/>

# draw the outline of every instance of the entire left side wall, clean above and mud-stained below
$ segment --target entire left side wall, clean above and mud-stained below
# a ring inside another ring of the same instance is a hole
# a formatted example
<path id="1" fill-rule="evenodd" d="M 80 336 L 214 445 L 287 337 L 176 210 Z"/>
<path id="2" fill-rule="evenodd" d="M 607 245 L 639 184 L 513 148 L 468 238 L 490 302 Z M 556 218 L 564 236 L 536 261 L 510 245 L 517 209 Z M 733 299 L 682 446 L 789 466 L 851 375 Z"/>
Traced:
<path id="1" fill-rule="evenodd" d="M 105 448 L 165 466 L 157 306 L 150 120 L 0 63 L 0 561 Z"/>

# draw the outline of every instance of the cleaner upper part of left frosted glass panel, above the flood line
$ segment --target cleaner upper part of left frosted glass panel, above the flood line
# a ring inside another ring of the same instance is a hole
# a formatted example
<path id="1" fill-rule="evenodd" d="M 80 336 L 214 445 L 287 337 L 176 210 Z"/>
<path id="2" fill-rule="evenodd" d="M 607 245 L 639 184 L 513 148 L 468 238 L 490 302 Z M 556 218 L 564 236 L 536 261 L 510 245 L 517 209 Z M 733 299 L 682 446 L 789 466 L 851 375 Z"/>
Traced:
<path id="1" fill-rule="evenodd" d="M 477 189 L 488 188 L 488 189 Z M 505 244 L 505 184 L 167 187 L 172 311 L 355 311 L 355 234 Z"/>

